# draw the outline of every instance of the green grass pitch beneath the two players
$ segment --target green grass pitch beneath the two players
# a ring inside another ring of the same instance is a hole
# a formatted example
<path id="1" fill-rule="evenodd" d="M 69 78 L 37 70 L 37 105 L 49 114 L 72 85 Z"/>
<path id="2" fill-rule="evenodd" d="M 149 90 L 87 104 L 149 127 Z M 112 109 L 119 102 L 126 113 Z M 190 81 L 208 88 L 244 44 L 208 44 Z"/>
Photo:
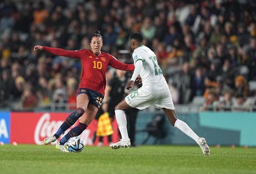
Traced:
<path id="1" fill-rule="evenodd" d="M 256 148 L 140 146 L 118 150 L 86 146 L 61 153 L 55 146 L 0 146 L 1 174 L 249 174 L 256 173 Z"/>

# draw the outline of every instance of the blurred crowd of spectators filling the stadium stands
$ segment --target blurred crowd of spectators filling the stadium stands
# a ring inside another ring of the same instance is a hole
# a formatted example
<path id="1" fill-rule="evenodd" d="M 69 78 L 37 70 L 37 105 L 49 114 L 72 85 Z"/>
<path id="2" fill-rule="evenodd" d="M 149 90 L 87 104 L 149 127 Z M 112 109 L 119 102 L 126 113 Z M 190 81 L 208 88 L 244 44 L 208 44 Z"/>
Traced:
<path id="1" fill-rule="evenodd" d="M 256 2 L 253 0 L 6 0 L 0 2 L 0 107 L 25 109 L 70 103 L 75 108 L 78 59 L 33 51 L 34 45 L 104 46 L 132 62 L 129 35 L 141 32 L 157 55 L 174 103 L 206 99 L 202 110 L 255 105 Z M 108 78 L 114 74 L 108 72 Z M 253 83 L 252 83 L 253 84 Z M 254 83 L 255 84 L 255 83 Z M 62 107 L 62 106 L 60 106 Z M 15 108 L 15 107 L 14 107 Z"/>

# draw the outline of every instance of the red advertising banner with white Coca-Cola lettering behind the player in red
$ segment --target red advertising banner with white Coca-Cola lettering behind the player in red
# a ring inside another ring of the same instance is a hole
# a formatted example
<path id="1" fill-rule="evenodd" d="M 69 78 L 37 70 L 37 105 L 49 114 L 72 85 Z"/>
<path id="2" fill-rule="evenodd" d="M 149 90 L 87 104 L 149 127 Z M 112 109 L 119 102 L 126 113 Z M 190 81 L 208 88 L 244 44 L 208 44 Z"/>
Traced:
<path id="1" fill-rule="evenodd" d="M 10 143 L 44 144 L 46 137 L 52 136 L 66 120 L 69 113 L 66 112 L 11 112 L 10 113 Z M 77 121 L 70 129 L 78 125 Z M 114 134 L 112 141 L 119 139 L 116 120 L 112 123 Z M 93 120 L 86 130 L 79 136 L 85 145 L 92 145 L 92 137 L 96 131 L 97 121 Z M 61 137 L 60 137 L 61 138 Z M 97 143 L 97 141 L 95 142 Z M 107 139 L 103 139 L 104 145 L 108 145 Z M 52 143 L 55 144 L 55 143 Z"/>

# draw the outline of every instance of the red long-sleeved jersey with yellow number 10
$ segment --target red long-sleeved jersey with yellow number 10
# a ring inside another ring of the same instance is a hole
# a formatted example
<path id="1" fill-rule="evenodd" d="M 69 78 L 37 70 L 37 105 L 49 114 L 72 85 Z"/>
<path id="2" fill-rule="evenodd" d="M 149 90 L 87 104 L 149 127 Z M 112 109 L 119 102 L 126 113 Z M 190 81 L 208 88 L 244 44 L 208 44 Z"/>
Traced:
<path id="1" fill-rule="evenodd" d="M 124 71 L 134 71 L 133 64 L 124 64 L 105 52 L 95 55 L 91 50 L 87 49 L 68 51 L 60 48 L 43 47 L 43 50 L 59 56 L 79 58 L 82 62 L 79 88 L 88 88 L 102 95 L 105 94 L 106 69 L 108 65 Z"/>

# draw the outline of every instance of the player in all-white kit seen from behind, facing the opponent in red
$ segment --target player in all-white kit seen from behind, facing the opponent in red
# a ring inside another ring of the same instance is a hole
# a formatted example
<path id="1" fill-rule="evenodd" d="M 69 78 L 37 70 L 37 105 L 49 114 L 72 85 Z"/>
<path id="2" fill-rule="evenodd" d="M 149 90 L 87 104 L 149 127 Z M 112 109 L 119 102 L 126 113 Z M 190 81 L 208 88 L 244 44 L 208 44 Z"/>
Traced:
<path id="1" fill-rule="evenodd" d="M 170 89 L 158 66 L 155 53 L 143 45 L 143 36 L 141 33 L 133 33 L 131 35 L 130 46 L 134 51 L 132 57 L 134 59 L 135 69 L 131 81 L 127 83 L 126 88 L 132 88 L 138 75 L 141 76 L 142 87 L 130 93 L 116 105 L 115 116 L 122 139 L 117 143 L 111 144 L 110 147 L 112 149 L 119 149 L 119 147 L 129 147 L 131 145 L 127 133 L 125 110 L 131 108 L 145 109 L 154 105 L 159 109 L 163 109 L 171 125 L 177 127 L 195 140 L 201 147 L 204 155 L 210 155 L 210 148 L 206 144 L 206 140 L 198 137 L 185 122 L 177 118 Z"/>

